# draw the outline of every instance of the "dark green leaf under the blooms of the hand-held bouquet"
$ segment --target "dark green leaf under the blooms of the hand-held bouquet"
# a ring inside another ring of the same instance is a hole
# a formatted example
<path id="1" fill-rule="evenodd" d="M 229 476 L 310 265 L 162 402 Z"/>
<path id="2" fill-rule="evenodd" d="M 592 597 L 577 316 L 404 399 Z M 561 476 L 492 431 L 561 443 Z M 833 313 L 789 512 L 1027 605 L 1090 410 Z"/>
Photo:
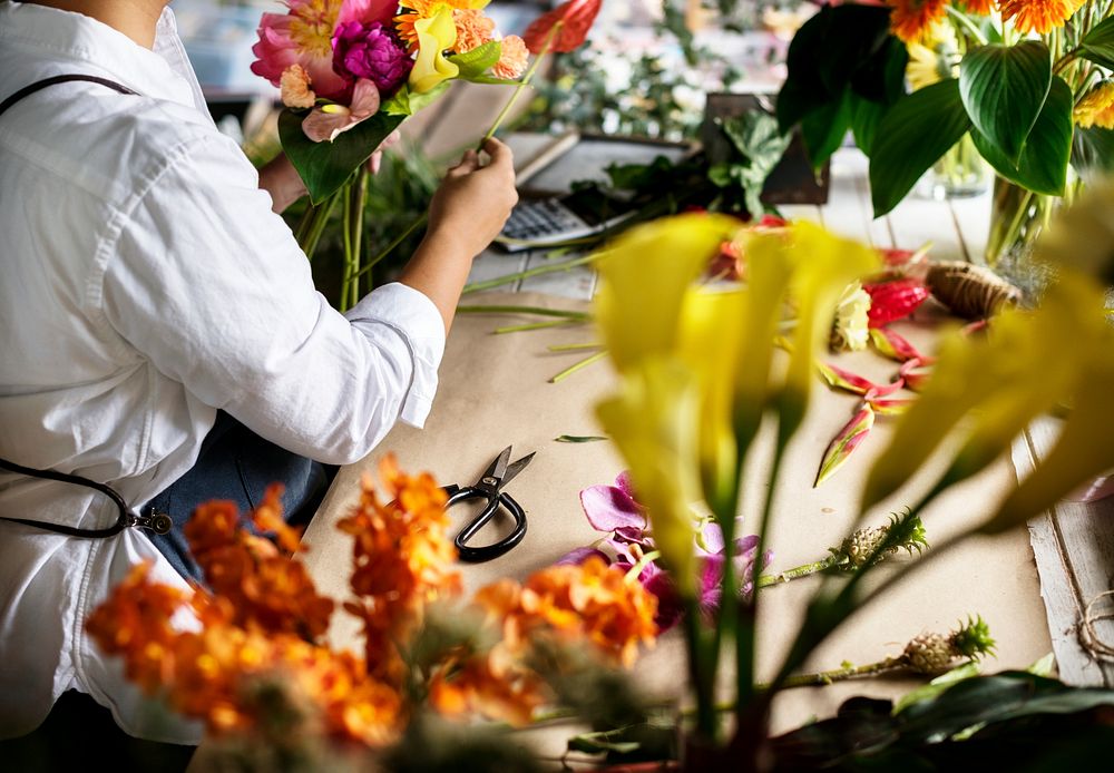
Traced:
<path id="1" fill-rule="evenodd" d="M 314 204 L 321 204 L 336 193 L 405 117 L 380 110 L 332 143 L 314 143 L 302 130 L 305 115 L 304 111 L 284 109 L 278 116 L 278 138 Z"/>

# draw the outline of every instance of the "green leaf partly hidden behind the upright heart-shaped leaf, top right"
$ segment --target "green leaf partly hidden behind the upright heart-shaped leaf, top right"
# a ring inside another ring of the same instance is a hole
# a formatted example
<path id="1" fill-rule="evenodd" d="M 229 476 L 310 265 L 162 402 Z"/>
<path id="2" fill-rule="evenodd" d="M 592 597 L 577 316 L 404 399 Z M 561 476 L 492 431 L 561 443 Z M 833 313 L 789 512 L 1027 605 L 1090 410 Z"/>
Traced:
<path id="1" fill-rule="evenodd" d="M 1072 155 L 1072 89 L 1061 78 L 1052 79 L 1048 98 L 1037 116 L 1017 163 L 979 131 L 971 131 L 975 147 L 995 170 L 1012 183 L 1038 194 L 1062 196 Z"/>

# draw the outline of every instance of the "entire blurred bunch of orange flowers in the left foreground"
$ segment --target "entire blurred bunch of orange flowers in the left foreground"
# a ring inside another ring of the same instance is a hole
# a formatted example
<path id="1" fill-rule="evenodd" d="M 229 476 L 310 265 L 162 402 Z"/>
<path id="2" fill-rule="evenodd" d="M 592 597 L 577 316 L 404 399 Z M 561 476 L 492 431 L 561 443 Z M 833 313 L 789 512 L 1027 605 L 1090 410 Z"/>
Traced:
<path id="1" fill-rule="evenodd" d="M 301 562 L 242 529 L 236 507 L 224 501 L 199 507 L 185 530 L 212 591 L 157 585 L 141 565 L 89 617 L 89 635 L 124 659 L 127 677 L 146 694 L 204 720 L 215 734 L 268 726 L 271 704 L 258 688 L 278 685 L 311 708 L 312 732 L 373 747 L 405 726 L 414 677 L 429 677 L 418 694 L 428 692 L 446 714 L 472 711 L 521 724 L 553 697 L 530 665 L 538 642 L 590 642 L 624 665 L 639 643 L 653 642 L 656 597 L 590 559 L 550 567 L 521 586 L 483 588 L 476 607 L 496 635 L 446 647 L 428 672 L 411 673 L 400 647 L 414 645 L 431 601 L 459 593 L 457 554 L 446 493 L 432 477 L 404 474 L 392 457 L 380 473 L 388 501 L 365 478 L 359 503 L 339 524 L 353 537 L 356 598 L 345 609 L 363 623 L 365 657 L 320 644 L 333 601 L 316 594 Z M 252 518 L 296 551 L 299 532 L 282 520 L 281 493 L 268 490 Z"/>

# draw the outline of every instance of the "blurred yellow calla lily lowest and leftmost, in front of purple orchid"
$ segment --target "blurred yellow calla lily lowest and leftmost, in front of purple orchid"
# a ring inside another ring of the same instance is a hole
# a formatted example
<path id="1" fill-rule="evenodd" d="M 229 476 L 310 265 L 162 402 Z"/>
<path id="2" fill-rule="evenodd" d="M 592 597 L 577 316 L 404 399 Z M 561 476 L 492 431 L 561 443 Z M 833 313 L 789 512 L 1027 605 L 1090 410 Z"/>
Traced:
<path id="1" fill-rule="evenodd" d="M 692 503 L 700 500 L 700 388 L 672 356 L 651 356 L 623 378 L 622 392 L 596 407 L 631 468 L 654 542 L 682 596 L 696 595 Z"/>

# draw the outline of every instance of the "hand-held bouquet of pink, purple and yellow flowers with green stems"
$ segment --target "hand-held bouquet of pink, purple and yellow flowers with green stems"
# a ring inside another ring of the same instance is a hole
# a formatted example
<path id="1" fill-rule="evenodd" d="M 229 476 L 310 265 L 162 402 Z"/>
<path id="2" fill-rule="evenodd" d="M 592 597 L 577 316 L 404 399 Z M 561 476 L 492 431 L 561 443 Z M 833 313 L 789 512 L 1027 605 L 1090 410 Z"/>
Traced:
<path id="1" fill-rule="evenodd" d="M 453 80 L 516 84 L 528 52 L 500 37 L 487 0 L 290 0 L 264 13 L 252 71 L 281 89 L 283 150 L 313 206 L 297 228 L 312 256 L 344 202 L 341 305 L 359 297 L 367 162 L 407 117 Z"/>

